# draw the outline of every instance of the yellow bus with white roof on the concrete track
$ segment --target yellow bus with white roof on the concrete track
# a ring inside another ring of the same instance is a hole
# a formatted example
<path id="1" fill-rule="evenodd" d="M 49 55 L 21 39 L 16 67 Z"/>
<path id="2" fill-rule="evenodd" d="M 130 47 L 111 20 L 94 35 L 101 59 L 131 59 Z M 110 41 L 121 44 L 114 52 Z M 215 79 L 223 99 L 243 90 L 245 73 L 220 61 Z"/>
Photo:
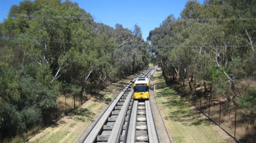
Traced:
<path id="1" fill-rule="evenodd" d="M 149 98 L 149 83 L 147 77 L 138 77 L 133 84 L 134 99 Z"/>

